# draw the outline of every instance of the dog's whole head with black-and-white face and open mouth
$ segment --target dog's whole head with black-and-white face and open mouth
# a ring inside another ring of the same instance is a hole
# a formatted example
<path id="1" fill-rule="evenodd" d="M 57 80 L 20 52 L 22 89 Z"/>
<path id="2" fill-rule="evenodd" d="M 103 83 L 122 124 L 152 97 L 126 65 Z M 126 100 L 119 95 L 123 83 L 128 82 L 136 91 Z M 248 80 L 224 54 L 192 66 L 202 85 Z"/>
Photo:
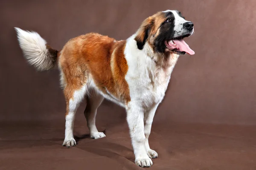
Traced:
<path id="1" fill-rule="evenodd" d="M 143 50 L 145 43 L 155 53 L 195 54 L 183 40 L 193 34 L 194 24 L 185 20 L 180 11 L 161 11 L 145 19 L 134 38 Z"/>

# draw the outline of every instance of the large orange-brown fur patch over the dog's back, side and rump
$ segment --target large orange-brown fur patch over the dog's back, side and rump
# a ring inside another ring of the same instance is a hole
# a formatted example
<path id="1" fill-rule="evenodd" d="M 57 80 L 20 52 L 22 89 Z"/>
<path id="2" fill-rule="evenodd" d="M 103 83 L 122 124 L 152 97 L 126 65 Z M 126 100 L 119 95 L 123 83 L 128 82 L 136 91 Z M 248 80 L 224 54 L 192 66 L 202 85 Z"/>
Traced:
<path id="1" fill-rule="evenodd" d="M 110 92 L 122 102 L 131 100 L 125 80 L 128 71 L 125 44 L 126 41 L 115 41 L 96 33 L 81 35 L 67 42 L 59 58 L 64 74 L 67 109 L 74 91 L 81 89 L 90 76 L 103 93 Z"/>

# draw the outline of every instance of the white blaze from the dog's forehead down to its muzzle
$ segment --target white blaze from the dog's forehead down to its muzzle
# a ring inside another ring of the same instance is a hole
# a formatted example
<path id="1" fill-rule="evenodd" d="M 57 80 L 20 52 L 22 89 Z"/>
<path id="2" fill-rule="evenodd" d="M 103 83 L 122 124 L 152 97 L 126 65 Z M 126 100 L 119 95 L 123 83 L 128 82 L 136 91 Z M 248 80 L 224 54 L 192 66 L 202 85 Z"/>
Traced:
<path id="1" fill-rule="evenodd" d="M 183 24 L 188 22 L 188 21 L 185 20 L 184 18 L 180 17 L 180 15 L 175 10 L 166 10 L 166 11 L 163 11 L 163 12 L 172 12 L 172 14 L 175 17 L 175 20 L 174 20 L 175 34 L 174 34 L 174 36 L 179 36 L 180 34 L 182 34 L 182 32 L 184 31 Z"/>

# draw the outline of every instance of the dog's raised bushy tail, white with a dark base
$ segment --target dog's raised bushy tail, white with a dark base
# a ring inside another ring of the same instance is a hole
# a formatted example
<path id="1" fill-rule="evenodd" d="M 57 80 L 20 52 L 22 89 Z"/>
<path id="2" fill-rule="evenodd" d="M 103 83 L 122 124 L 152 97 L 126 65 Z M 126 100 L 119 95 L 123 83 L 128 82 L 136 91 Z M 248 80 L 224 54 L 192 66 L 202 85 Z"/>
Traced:
<path id="1" fill-rule="evenodd" d="M 52 49 L 47 42 L 34 31 L 16 28 L 17 38 L 24 57 L 37 71 L 55 68 L 58 51 Z"/>

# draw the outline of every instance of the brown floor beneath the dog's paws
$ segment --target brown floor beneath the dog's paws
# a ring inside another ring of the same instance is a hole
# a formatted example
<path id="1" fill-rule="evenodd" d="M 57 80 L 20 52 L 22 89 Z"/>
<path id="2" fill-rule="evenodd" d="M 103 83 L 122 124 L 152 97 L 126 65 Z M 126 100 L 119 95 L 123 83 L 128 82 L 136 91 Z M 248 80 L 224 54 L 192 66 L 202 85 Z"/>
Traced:
<path id="1" fill-rule="evenodd" d="M 0 126 L 0 170 L 141 170 L 125 122 L 99 126 L 106 138 L 90 139 L 76 120 L 76 147 L 62 147 L 64 122 L 9 122 Z M 150 170 L 256 170 L 256 127 L 153 124 Z"/>

